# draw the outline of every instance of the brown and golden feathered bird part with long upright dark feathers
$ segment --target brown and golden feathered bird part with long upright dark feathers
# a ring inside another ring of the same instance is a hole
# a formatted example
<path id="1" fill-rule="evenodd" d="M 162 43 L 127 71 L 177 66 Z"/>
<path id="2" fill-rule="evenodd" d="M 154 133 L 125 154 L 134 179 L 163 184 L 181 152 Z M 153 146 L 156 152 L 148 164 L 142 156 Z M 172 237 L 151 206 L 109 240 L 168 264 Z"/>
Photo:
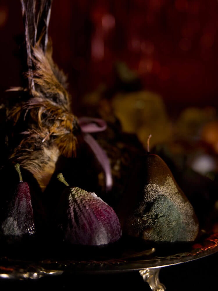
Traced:
<path id="1" fill-rule="evenodd" d="M 48 41 L 51 2 L 21 0 L 28 85 L 10 90 L 20 91 L 20 96 L 25 97 L 8 109 L 8 120 L 13 121 L 15 130 L 12 136 L 22 136 L 19 142 L 10 145 L 10 159 L 30 171 L 42 191 L 60 155 L 76 155 L 76 132 L 80 131 L 78 120 L 71 112 L 66 76 L 52 59 Z"/>

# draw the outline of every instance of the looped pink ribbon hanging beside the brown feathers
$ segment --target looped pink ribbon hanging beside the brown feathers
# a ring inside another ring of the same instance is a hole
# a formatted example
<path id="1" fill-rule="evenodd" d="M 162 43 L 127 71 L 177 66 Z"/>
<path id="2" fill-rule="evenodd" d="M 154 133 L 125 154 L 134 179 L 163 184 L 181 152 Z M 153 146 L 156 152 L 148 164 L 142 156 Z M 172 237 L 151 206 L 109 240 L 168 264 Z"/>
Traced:
<path id="1" fill-rule="evenodd" d="M 103 119 L 92 117 L 80 117 L 78 118 L 78 121 L 81 127 L 81 131 L 83 132 L 85 142 L 90 146 L 103 168 L 106 177 L 106 190 L 108 191 L 112 188 L 113 184 L 110 162 L 106 152 L 103 150 L 103 148 L 100 147 L 97 141 L 90 134 L 104 131 L 107 128 L 107 124 Z"/>

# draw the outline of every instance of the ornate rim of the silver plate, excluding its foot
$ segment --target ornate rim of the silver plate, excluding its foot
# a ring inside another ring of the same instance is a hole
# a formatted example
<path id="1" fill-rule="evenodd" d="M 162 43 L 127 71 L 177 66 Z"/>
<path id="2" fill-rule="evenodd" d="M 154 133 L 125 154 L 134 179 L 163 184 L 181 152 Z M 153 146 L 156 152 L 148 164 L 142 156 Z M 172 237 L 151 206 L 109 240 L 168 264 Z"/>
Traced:
<path id="1" fill-rule="evenodd" d="M 13 260 L 12 258 L 0 258 L 0 278 L 40 278 L 48 275 L 59 275 L 64 271 L 70 272 L 119 272 L 131 270 L 152 269 L 166 267 L 178 263 L 188 262 L 205 257 L 218 251 L 218 233 L 204 239 L 202 244 L 193 244 L 191 252 L 177 253 L 166 257 L 143 258 L 154 253 L 155 249 L 149 249 L 141 253 L 135 253 L 125 258 L 109 260 L 43 260 L 39 262 Z"/>

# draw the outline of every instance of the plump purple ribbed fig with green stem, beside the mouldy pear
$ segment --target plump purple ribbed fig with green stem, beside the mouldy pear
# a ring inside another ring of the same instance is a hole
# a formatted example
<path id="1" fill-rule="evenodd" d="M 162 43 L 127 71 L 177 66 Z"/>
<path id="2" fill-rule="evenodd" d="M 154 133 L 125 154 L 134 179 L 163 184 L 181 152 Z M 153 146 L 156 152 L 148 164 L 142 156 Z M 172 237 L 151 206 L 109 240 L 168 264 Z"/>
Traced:
<path id="1" fill-rule="evenodd" d="M 106 245 L 121 237 L 117 214 L 95 193 L 78 187 L 69 187 L 62 174 L 58 179 L 68 187 L 63 191 L 59 205 L 64 241 L 89 246 Z"/>

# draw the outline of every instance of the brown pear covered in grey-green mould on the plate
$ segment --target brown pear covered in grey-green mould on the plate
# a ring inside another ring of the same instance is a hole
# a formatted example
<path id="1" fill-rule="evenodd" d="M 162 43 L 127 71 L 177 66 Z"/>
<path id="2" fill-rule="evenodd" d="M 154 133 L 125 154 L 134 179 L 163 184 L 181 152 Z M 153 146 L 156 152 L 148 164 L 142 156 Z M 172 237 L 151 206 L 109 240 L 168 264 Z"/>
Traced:
<path id="1" fill-rule="evenodd" d="M 128 201 L 121 217 L 123 232 L 153 242 L 191 242 L 199 222 L 189 200 L 176 183 L 167 164 L 158 156 L 145 156 L 140 173 L 143 187 L 128 187 Z M 139 172 L 138 172 L 139 173 Z"/>

